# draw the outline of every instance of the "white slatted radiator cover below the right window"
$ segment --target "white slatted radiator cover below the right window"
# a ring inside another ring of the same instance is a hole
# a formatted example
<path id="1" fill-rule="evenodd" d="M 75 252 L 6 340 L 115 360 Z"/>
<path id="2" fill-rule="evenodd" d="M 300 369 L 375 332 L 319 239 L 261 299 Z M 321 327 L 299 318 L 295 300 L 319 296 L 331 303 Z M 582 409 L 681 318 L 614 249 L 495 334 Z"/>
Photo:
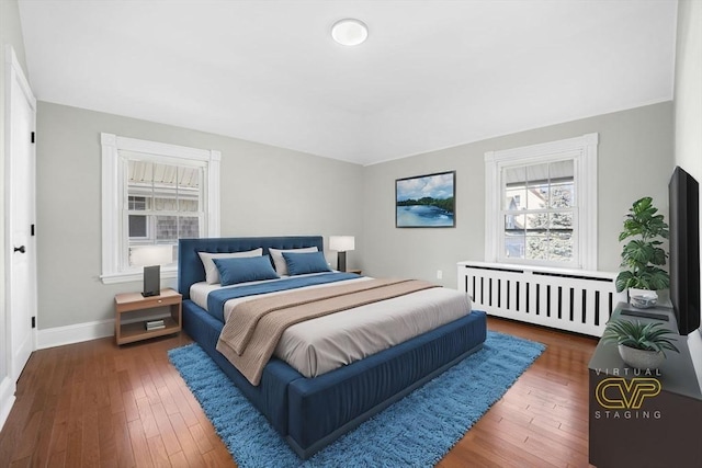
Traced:
<path id="1" fill-rule="evenodd" d="M 458 262 L 458 290 L 488 315 L 602 336 L 626 293 L 616 273 L 585 272 L 487 262 Z"/>

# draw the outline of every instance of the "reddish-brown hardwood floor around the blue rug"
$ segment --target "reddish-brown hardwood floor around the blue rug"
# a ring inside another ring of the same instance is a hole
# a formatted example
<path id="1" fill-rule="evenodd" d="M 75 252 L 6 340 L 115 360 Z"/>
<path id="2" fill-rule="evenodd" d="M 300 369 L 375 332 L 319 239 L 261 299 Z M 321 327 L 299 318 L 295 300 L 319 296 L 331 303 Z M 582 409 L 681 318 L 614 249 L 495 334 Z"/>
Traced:
<path id="1" fill-rule="evenodd" d="M 587 467 L 597 341 L 495 318 L 488 327 L 548 347 L 439 467 Z M 236 466 L 168 361 L 190 341 L 102 339 L 33 353 L 0 432 L 0 467 Z"/>

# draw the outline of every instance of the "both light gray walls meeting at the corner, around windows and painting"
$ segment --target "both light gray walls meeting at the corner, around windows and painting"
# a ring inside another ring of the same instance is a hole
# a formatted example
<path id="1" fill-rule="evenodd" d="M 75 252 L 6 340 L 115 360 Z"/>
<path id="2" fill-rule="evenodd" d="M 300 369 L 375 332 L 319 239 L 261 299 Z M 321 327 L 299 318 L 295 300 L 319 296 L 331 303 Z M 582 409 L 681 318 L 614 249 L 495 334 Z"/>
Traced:
<path id="1" fill-rule="evenodd" d="M 222 151 L 223 236 L 353 235 L 356 250 L 348 254 L 350 267 L 455 287 L 456 262 L 484 258 L 484 153 L 593 132 L 600 135 L 599 270 L 616 271 L 616 237 L 631 203 L 652 195 L 666 212 L 672 113 L 672 103 L 659 103 L 362 168 L 39 102 L 39 330 L 110 319 L 114 294 L 140 288 L 138 283 L 103 285 L 99 279 L 101 132 Z M 448 170 L 456 170 L 456 228 L 396 229 L 395 179 Z M 443 279 L 437 279 L 438 270 Z"/>

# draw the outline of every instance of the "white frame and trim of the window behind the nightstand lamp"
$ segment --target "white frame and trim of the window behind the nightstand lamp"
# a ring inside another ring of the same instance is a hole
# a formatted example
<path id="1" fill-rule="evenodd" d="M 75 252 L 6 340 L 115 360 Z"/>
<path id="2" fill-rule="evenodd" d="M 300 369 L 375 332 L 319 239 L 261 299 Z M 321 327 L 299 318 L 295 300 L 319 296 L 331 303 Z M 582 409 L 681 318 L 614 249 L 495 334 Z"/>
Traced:
<path id="1" fill-rule="evenodd" d="M 126 168 L 120 162 L 120 151 L 140 153 L 143 159 L 155 162 L 193 164 L 204 168 L 203 204 L 204 237 L 219 237 L 219 168 L 222 153 L 183 146 L 100 134 L 102 146 L 102 274 L 103 284 L 136 282 L 143 278 L 143 269 L 129 267 L 128 252 L 123 252 L 124 240 L 128 246 L 128 218 L 124 215 Z M 161 267 L 162 278 L 178 276 L 177 265 Z"/>

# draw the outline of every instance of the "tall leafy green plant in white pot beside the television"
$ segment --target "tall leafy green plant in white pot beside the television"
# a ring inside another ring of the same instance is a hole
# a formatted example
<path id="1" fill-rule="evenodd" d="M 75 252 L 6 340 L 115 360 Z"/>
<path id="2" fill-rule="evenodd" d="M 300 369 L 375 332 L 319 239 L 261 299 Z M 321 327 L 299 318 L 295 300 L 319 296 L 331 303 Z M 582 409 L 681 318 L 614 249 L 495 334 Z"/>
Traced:
<path id="1" fill-rule="evenodd" d="M 670 286 L 666 264 L 668 254 L 663 249 L 663 240 L 668 239 L 668 224 L 649 196 L 637 199 L 624 219 L 624 229 L 619 241 L 630 239 L 622 249 L 622 266 L 626 270 L 616 276 L 616 290 L 629 289 L 634 307 L 650 307 L 656 304 L 656 290 Z M 634 290 L 632 290 L 634 289 Z"/>

